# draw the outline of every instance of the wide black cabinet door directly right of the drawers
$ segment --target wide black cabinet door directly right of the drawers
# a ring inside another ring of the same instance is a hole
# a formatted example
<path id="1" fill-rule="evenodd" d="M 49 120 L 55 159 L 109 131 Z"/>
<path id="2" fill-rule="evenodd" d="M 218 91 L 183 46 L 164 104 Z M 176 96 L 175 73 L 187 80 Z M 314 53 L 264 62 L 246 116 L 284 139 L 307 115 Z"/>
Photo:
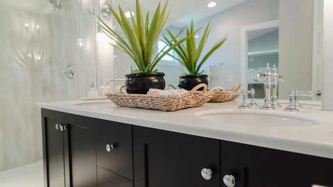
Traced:
<path id="1" fill-rule="evenodd" d="M 135 187 L 220 186 L 220 141 L 133 126 L 133 143 Z"/>

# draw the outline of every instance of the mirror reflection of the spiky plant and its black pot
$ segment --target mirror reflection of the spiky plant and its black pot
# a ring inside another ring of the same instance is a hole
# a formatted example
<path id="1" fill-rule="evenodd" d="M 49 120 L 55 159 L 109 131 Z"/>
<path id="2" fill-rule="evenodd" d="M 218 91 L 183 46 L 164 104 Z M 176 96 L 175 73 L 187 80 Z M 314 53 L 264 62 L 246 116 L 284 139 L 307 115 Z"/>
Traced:
<path id="1" fill-rule="evenodd" d="M 191 90 L 196 87 L 196 85 L 201 83 L 205 83 L 208 85 L 208 75 L 203 74 L 204 71 L 200 71 L 200 68 L 207 61 L 210 55 L 212 55 L 212 53 L 214 53 L 220 46 L 222 46 L 222 44 L 225 42 L 225 39 L 228 38 L 227 35 L 225 35 L 223 39 L 216 42 L 216 44 L 210 49 L 210 51 L 208 51 L 205 56 L 203 56 L 203 58 L 199 62 L 199 58 L 201 56 L 201 53 L 203 52 L 203 47 L 205 46 L 208 35 L 210 34 L 210 28 L 211 27 L 209 22 L 205 29 L 205 33 L 203 33 L 203 37 L 200 39 L 198 48 L 196 48 L 194 35 L 191 35 L 194 33 L 194 24 L 192 20 L 190 30 L 187 28 L 187 37 L 189 38 L 186 40 L 186 46 L 184 44 L 180 44 L 176 48 L 173 48 L 173 50 L 177 53 L 178 57 L 167 54 L 178 60 L 183 66 L 185 66 L 187 71 L 189 71 L 189 73 L 184 73 L 184 75 L 180 75 L 178 87 L 186 90 Z M 171 40 L 167 39 L 167 37 L 163 35 L 165 39 L 164 43 L 172 46 L 173 43 L 177 43 L 178 41 L 169 30 L 168 32 L 171 36 Z"/>

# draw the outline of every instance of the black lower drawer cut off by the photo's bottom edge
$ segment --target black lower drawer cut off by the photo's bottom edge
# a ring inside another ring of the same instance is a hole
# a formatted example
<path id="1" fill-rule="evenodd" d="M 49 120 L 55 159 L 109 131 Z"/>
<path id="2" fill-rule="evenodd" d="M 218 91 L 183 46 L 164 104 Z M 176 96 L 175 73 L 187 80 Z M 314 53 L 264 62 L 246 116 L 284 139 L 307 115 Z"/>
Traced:
<path id="1" fill-rule="evenodd" d="M 97 166 L 97 185 L 99 187 L 133 187 L 133 181 Z"/>

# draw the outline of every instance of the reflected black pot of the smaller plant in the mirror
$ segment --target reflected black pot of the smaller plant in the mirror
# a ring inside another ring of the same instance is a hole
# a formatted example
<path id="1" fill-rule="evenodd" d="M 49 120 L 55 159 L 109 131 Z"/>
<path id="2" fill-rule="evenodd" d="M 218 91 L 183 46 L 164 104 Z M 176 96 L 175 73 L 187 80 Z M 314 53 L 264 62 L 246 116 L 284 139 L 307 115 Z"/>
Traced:
<path id="1" fill-rule="evenodd" d="M 205 83 L 208 86 L 208 75 L 180 75 L 179 78 L 178 87 L 181 89 L 191 90 L 201 83 Z M 203 88 L 198 90 L 202 91 Z"/>

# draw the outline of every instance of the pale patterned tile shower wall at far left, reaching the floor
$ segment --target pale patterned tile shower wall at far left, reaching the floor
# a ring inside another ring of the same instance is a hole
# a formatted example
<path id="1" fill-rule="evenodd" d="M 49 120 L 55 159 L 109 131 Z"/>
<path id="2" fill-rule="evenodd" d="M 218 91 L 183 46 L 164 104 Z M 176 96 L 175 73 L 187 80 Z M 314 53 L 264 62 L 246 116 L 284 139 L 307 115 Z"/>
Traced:
<path id="1" fill-rule="evenodd" d="M 52 100 L 53 56 L 48 15 L 0 6 L 0 25 L 0 170 L 3 170 L 42 159 L 41 124 L 37 121 L 40 109 L 35 103 Z"/>

